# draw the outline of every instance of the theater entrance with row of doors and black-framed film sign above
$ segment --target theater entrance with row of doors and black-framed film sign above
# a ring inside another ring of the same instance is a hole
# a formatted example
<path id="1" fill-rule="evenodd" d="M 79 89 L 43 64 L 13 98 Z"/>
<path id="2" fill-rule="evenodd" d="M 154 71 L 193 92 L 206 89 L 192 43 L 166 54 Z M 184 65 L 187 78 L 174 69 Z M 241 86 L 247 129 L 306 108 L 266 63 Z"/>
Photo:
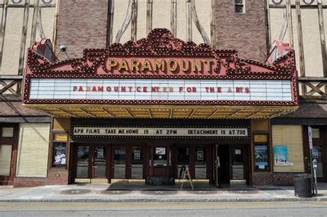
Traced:
<path id="1" fill-rule="evenodd" d="M 246 181 L 249 128 L 239 120 L 72 118 L 73 176 L 172 184 L 187 166 L 192 178 L 212 183 L 213 153 L 219 153 L 224 182 Z"/>

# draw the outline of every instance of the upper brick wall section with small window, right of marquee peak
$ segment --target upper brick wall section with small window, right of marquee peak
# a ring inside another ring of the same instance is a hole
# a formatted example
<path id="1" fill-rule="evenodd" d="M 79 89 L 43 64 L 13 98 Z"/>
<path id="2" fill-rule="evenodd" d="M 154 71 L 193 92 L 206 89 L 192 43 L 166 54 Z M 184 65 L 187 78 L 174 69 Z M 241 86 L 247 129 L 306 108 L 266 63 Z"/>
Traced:
<path id="1" fill-rule="evenodd" d="M 218 49 L 238 50 L 242 59 L 264 61 L 266 25 L 264 1 L 246 0 L 245 13 L 235 14 L 234 1 L 216 1 L 216 41 Z"/>

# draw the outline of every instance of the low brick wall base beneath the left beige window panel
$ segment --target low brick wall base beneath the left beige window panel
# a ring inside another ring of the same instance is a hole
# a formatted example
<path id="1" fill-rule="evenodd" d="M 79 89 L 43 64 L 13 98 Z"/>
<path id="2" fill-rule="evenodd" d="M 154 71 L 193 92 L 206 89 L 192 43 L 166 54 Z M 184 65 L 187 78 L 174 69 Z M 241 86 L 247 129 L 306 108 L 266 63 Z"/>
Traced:
<path id="1" fill-rule="evenodd" d="M 47 178 L 14 178 L 14 187 L 36 187 L 40 185 L 67 185 L 67 171 L 48 171 Z"/>

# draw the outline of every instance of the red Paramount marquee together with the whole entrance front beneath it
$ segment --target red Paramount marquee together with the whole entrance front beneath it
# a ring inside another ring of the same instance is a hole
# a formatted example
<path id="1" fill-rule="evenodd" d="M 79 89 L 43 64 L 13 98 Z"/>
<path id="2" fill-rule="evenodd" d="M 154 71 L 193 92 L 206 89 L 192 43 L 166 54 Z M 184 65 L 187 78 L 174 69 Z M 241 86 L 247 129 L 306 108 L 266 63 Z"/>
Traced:
<path id="1" fill-rule="evenodd" d="M 188 167 L 218 185 L 273 173 L 270 118 L 298 107 L 290 48 L 259 63 L 166 29 L 79 59 L 50 48 L 28 50 L 23 88 L 25 106 L 53 116 L 48 179 L 172 185 Z"/>

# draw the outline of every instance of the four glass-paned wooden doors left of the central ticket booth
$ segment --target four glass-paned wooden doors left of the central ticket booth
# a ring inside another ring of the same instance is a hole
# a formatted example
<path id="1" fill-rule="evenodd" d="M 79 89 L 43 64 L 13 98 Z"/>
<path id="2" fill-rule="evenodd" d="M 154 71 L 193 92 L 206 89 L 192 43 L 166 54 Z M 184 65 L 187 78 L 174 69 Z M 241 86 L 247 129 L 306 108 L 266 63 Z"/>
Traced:
<path id="1" fill-rule="evenodd" d="M 76 178 L 144 178 L 142 145 L 90 145 L 75 147 Z"/>

